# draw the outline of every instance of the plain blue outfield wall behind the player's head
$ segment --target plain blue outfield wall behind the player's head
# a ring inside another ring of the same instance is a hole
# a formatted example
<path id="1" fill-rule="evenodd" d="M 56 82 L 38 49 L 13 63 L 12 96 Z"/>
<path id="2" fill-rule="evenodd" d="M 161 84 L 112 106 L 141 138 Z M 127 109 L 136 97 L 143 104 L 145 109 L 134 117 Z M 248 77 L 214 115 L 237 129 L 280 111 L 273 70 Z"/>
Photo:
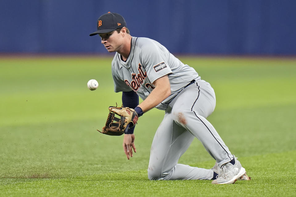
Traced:
<path id="1" fill-rule="evenodd" d="M 121 14 L 131 35 L 178 54 L 296 54 L 294 0 L 0 0 L 0 52 L 108 53 L 97 18 Z"/>

